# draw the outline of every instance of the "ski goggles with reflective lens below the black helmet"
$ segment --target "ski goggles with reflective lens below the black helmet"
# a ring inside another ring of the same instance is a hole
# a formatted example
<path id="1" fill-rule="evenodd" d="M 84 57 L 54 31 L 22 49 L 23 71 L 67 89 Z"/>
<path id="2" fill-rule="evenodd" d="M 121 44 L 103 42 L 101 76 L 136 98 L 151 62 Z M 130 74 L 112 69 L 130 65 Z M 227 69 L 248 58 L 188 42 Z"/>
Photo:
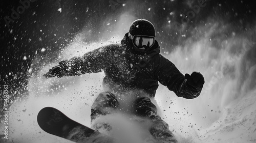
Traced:
<path id="1" fill-rule="evenodd" d="M 142 50 L 151 48 L 155 43 L 155 37 L 153 36 L 146 36 L 146 35 L 132 36 L 130 33 L 128 36 L 130 39 L 132 39 L 133 45 L 136 48 L 139 48 Z"/>

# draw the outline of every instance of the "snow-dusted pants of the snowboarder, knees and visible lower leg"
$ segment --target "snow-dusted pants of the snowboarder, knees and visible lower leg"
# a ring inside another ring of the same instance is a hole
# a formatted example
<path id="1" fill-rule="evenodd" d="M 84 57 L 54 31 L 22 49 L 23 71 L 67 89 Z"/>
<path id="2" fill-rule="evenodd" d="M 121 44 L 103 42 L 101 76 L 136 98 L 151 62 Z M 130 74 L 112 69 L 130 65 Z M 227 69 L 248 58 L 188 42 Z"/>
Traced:
<path id="1" fill-rule="evenodd" d="M 91 108 L 91 122 L 99 116 L 108 115 L 120 109 L 119 105 L 115 94 L 111 92 L 100 93 Z M 154 126 L 150 128 L 150 133 L 154 138 L 162 142 L 177 142 L 174 134 L 168 129 L 168 124 L 157 115 L 157 107 L 151 102 L 150 98 L 140 97 L 131 106 L 133 106 L 131 113 L 153 121 Z M 109 129 L 109 126 L 106 124 L 105 128 Z"/>

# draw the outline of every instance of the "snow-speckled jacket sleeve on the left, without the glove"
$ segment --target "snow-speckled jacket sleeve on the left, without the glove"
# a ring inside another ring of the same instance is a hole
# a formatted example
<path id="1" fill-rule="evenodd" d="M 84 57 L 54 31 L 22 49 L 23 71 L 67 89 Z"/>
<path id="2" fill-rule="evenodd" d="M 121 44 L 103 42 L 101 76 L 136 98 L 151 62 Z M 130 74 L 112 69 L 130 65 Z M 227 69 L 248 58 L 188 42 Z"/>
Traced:
<path id="1" fill-rule="evenodd" d="M 73 57 L 70 60 L 61 61 L 66 76 L 77 76 L 85 73 L 96 73 L 103 71 L 111 61 L 113 46 L 103 46 L 87 52 L 82 57 Z"/>

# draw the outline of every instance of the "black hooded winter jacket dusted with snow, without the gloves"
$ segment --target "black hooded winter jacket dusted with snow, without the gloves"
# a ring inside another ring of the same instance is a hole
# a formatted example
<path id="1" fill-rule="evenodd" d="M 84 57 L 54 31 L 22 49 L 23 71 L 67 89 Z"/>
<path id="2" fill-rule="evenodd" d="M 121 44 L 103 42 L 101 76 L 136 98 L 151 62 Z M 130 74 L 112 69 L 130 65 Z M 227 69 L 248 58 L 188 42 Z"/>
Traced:
<path id="1" fill-rule="evenodd" d="M 199 96 L 202 90 L 187 84 L 184 75 L 160 54 L 157 41 L 147 54 L 138 53 L 133 50 L 127 34 L 120 45 L 100 47 L 81 58 L 62 61 L 61 65 L 67 76 L 104 71 L 103 85 L 115 93 L 140 90 L 154 97 L 158 81 L 178 97 L 187 99 Z"/>

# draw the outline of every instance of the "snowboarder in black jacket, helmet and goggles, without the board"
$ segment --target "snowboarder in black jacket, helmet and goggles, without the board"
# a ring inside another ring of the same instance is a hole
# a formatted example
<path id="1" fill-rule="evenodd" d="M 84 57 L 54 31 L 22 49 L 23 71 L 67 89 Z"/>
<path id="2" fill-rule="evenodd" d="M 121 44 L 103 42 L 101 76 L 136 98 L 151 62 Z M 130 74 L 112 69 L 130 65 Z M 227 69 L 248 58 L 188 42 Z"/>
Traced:
<path id="1" fill-rule="evenodd" d="M 204 77 L 199 72 L 185 76 L 180 73 L 172 62 L 160 54 L 155 37 L 155 27 L 150 21 L 135 20 L 120 44 L 103 46 L 82 57 L 61 61 L 44 76 L 78 76 L 104 71 L 103 87 L 107 92 L 100 93 L 94 101 L 92 121 L 119 108 L 120 95 L 131 96 L 134 98 L 131 100 L 131 112 L 153 121 L 151 134 L 162 141 L 176 142 L 168 124 L 157 115 L 157 107 L 151 102 L 158 81 L 178 97 L 193 99 L 200 95 Z"/>

